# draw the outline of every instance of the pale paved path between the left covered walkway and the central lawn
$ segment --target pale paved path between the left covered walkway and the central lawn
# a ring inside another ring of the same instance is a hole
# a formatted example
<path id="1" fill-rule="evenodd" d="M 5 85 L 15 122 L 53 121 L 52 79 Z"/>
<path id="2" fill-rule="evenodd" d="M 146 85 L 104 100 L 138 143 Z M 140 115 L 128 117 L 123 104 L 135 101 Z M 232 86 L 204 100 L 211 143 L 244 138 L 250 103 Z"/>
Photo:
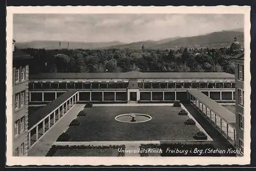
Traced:
<path id="1" fill-rule="evenodd" d="M 46 156 L 52 144 L 58 139 L 59 135 L 67 130 L 70 122 L 76 117 L 84 107 L 84 104 L 75 104 L 72 109 L 57 122 L 44 137 L 29 149 L 28 156 Z"/>

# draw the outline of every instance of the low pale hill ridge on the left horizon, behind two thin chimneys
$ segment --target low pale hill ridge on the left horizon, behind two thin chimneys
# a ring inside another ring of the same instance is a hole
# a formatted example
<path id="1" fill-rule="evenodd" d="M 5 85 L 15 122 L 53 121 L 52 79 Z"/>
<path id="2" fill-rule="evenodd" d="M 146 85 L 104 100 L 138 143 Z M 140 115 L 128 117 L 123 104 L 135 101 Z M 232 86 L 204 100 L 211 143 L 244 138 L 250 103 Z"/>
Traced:
<path id="1" fill-rule="evenodd" d="M 122 45 L 123 42 L 120 41 L 110 41 L 110 42 L 69 42 L 69 49 L 97 49 L 106 46 Z M 19 49 L 35 48 L 35 49 L 59 49 L 59 41 L 30 41 L 30 42 L 16 42 L 16 47 Z M 68 47 L 67 41 L 61 41 L 61 49 L 66 49 Z"/>

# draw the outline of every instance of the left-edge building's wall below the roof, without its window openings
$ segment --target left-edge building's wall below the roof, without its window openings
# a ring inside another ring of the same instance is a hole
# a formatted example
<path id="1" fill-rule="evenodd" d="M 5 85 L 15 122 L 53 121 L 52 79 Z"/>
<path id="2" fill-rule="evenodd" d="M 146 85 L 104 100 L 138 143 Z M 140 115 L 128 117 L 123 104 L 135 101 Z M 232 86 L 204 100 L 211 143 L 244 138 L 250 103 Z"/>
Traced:
<path id="1" fill-rule="evenodd" d="M 29 66 L 26 65 L 25 67 L 25 80 L 24 81 L 18 81 L 15 82 L 15 71 L 16 68 L 19 68 L 19 65 L 16 65 L 13 67 L 13 112 L 12 112 L 12 118 L 13 118 L 13 156 L 16 155 L 15 151 L 16 148 L 18 148 L 18 155 L 20 156 L 22 154 L 22 144 L 24 143 L 24 150 L 23 155 L 27 155 L 27 149 L 28 149 L 28 80 L 29 80 Z M 19 71 L 20 74 L 20 71 Z M 15 95 L 19 94 L 19 105 L 20 105 L 20 93 L 24 92 L 24 105 L 19 106 L 18 109 L 15 110 Z M 20 132 L 20 119 L 24 117 L 24 130 Z M 19 134 L 15 136 L 15 122 L 19 121 Z"/>

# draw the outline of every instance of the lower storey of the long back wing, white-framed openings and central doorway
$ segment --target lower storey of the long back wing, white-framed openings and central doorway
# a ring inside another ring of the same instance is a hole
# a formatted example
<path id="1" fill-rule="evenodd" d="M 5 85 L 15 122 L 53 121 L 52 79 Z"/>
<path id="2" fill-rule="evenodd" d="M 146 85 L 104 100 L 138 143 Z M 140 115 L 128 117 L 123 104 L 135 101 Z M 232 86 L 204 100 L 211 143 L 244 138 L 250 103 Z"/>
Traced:
<path id="1" fill-rule="evenodd" d="M 188 89 L 190 90 L 190 89 Z M 78 90 L 78 101 L 130 101 L 130 100 L 182 100 L 187 99 L 187 90 Z M 200 90 L 213 100 L 234 101 L 234 89 Z M 30 91 L 29 102 L 51 102 L 66 91 Z M 131 94 L 132 93 L 132 94 Z M 134 95 L 135 94 L 135 95 Z M 135 96 L 135 97 L 134 97 Z"/>

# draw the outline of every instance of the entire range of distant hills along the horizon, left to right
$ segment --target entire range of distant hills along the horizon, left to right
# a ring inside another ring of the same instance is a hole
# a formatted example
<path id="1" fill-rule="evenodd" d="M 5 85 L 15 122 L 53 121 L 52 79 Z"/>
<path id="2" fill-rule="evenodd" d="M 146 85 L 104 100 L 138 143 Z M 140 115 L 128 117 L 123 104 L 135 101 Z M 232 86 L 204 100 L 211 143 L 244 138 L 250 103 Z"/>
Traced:
<path id="1" fill-rule="evenodd" d="M 192 37 L 170 37 L 155 40 L 146 40 L 132 42 L 125 44 L 120 41 L 110 42 L 69 42 L 69 49 L 141 49 L 144 45 L 145 49 L 178 49 L 181 47 L 187 48 L 220 48 L 229 47 L 233 41 L 234 36 L 241 42 L 243 46 L 244 33 L 243 29 L 234 29 L 222 32 L 214 32 L 205 35 L 192 36 Z M 59 49 L 59 41 L 30 41 L 30 42 L 16 42 L 16 47 L 19 49 L 26 48 L 44 48 L 44 49 Z M 67 41 L 61 41 L 61 49 L 68 47 Z"/>

